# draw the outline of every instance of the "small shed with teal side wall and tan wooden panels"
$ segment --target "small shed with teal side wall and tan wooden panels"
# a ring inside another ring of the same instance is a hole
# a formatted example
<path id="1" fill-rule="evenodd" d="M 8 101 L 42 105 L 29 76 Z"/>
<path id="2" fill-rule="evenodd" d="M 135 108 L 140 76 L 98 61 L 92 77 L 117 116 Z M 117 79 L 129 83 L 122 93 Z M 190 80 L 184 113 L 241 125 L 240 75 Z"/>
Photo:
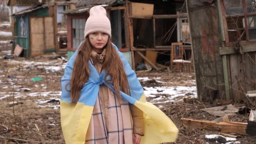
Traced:
<path id="1" fill-rule="evenodd" d="M 56 14 L 54 4 L 39 4 L 14 13 L 14 46 L 23 47 L 23 56 L 56 52 Z"/>

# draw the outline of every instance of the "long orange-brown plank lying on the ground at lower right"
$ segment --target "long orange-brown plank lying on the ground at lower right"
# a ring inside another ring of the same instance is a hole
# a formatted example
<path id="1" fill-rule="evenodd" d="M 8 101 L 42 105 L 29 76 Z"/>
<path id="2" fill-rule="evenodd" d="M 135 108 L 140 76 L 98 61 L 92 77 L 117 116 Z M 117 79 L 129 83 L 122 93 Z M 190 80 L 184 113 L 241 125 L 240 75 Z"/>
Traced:
<path id="1" fill-rule="evenodd" d="M 232 132 L 236 134 L 246 134 L 247 123 L 244 122 L 233 122 L 233 121 L 204 121 L 204 120 L 194 120 L 191 118 L 181 118 L 185 125 L 190 128 L 205 128 L 208 130 L 217 130 L 222 132 Z"/>

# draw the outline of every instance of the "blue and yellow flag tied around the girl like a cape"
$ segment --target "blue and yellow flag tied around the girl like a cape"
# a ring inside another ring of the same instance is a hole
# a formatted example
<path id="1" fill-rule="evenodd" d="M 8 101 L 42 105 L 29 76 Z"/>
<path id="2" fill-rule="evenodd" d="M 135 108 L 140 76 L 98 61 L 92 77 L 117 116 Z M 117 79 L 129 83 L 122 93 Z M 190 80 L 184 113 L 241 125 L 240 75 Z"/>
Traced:
<path id="1" fill-rule="evenodd" d="M 118 48 L 113 44 L 115 49 Z M 66 91 L 66 85 L 69 84 L 78 50 L 69 59 L 66 65 L 64 76 L 62 77 L 62 94 L 60 100 L 60 115 L 62 132 L 66 144 L 84 144 L 85 135 L 89 127 L 92 112 L 96 99 L 98 97 L 99 87 L 102 84 L 110 89 L 112 85 L 104 81 L 105 72 L 99 75 L 95 67 L 89 61 L 90 77 L 88 82 L 82 86 L 81 95 L 78 103 L 71 104 L 70 93 Z M 146 97 L 143 88 L 131 69 L 125 56 L 118 51 L 123 62 L 128 83 L 131 88 L 131 96 L 121 93 L 121 98 L 128 103 L 135 105 L 144 114 L 144 136 L 141 137 L 141 144 L 159 144 L 164 142 L 173 142 L 177 139 L 178 129 L 175 124 L 160 109 L 152 104 L 146 103 Z M 109 78 L 109 76 L 107 77 Z M 70 89 L 67 85 L 67 89 Z"/>

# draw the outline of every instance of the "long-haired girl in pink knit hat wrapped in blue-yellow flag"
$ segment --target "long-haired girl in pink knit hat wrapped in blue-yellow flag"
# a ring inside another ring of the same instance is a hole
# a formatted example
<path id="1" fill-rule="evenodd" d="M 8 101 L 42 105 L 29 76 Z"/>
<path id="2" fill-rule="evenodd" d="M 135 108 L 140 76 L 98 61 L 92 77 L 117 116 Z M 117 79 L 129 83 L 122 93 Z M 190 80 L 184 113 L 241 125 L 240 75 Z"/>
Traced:
<path id="1" fill-rule="evenodd" d="M 62 78 L 61 124 L 66 144 L 158 144 L 175 141 L 177 128 L 154 105 L 125 57 L 111 43 L 103 7 L 90 10 L 85 40 Z"/>

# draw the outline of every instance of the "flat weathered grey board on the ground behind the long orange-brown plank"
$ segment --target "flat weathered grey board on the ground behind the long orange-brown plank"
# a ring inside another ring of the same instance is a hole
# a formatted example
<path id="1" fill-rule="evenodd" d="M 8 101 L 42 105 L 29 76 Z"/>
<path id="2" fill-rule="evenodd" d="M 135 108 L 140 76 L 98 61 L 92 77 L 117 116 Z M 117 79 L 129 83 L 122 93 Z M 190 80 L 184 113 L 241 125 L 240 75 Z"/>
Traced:
<path id="1" fill-rule="evenodd" d="M 218 117 L 222 117 L 224 115 L 236 115 L 236 112 L 239 111 L 239 109 L 234 107 L 232 104 L 212 108 L 204 108 L 201 110 L 208 112 L 210 115 L 215 115 Z"/>

